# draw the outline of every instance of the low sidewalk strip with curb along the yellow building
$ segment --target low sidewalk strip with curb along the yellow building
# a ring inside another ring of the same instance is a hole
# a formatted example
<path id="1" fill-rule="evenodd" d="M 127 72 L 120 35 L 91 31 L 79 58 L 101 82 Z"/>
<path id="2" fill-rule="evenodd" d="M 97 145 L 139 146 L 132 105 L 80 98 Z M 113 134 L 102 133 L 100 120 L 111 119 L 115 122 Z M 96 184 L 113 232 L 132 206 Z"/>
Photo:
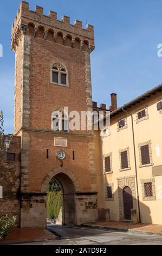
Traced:
<path id="1" fill-rule="evenodd" d="M 98 229 L 105 229 L 105 230 L 112 230 L 112 231 L 119 231 L 119 232 L 131 232 L 131 233 L 140 233 L 145 235 L 161 235 L 162 236 L 162 233 L 146 231 L 146 230 L 137 230 L 132 228 L 114 228 L 114 227 L 105 227 L 101 225 L 88 225 L 88 224 L 81 224 L 81 226 L 87 227 L 87 228 L 98 228 Z"/>

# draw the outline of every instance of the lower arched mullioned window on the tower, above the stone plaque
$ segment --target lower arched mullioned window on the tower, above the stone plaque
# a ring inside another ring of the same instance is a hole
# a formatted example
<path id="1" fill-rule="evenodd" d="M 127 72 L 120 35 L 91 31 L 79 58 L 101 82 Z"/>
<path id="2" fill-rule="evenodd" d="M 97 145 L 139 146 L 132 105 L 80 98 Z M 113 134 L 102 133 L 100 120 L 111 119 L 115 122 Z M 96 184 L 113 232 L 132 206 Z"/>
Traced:
<path id="1" fill-rule="evenodd" d="M 51 129 L 68 132 L 68 115 L 63 111 L 54 111 L 51 115 Z"/>

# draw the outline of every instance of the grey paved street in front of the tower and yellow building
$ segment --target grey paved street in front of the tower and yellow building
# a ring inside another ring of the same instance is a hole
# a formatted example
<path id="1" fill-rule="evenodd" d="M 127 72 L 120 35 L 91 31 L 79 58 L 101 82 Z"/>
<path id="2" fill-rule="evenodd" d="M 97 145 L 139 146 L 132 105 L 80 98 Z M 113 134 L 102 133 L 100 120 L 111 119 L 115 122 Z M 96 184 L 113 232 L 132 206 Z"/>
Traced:
<path id="1" fill-rule="evenodd" d="M 23 243 L 23 245 L 162 245 L 162 236 L 125 233 L 101 229 L 49 225 L 60 240 Z"/>

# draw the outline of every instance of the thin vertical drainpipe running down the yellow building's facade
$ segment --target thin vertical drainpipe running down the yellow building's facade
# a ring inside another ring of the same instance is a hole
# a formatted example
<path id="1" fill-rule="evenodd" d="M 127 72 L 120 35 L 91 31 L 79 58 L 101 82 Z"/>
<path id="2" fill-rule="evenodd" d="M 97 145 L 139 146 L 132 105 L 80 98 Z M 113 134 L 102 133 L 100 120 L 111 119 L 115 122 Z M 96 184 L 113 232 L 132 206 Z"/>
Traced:
<path id="1" fill-rule="evenodd" d="M 130 114 L 129 112 L 127 112 L 124 108 L 122 108 L 122 111 L 124 111 L 128 115 L 131 115 L 131 119 L 132 119 L 132 135 L 133 135 L 133 148 L 134 148 L 135 178 L 136 178 L 136 184 L 137 184 L 138 215 L 139 215 L 139 223 L 141 223 L 141 214 L 140 214 L 140 205 L 139 205 L 139 191 L 138 191 L 138 178 L 137 178 L 137 161 L 136 161 L 136 154 L 135 154 L 135 139 L 134 139 L 133 115 Z"/>

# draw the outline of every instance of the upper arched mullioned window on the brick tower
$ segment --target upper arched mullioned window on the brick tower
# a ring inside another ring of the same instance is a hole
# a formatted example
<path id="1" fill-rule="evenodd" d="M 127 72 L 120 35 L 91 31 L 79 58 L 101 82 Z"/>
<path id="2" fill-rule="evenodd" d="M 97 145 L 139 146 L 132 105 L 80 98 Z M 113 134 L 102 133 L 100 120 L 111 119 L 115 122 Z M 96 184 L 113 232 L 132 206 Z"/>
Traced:
<path id="1" fill-rule="evenodd" d="M 61 86 L 69 86 L 68 71 L 60 63 L 55 63 L 51 68 L 51 83 L 59 84 Z"/>

